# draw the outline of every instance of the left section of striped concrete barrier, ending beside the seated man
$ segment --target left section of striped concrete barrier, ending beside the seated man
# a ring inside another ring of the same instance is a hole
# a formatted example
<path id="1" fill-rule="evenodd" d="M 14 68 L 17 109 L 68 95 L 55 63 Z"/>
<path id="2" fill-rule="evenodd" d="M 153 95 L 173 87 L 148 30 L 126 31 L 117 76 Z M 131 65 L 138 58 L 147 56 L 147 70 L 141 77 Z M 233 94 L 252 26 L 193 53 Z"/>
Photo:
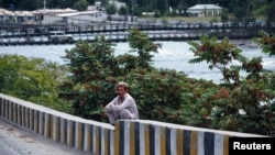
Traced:
<path id="1" fill-rule="evenodd" d="M 110 154 L 113 150 L 112 125 L 85 120 L 2 93 L 0 119 L 92 155 Z"/>

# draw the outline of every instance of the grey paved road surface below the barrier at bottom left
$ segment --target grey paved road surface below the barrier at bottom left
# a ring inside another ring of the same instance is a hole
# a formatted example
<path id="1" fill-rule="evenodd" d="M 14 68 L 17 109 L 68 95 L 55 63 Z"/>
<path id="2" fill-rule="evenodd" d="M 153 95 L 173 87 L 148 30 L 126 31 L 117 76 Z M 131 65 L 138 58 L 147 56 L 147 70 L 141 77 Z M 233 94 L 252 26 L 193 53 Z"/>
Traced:
<path id="1" fill-rule="evenodd" d="M 0 155 L 88 155 L 0 120 Z"/>

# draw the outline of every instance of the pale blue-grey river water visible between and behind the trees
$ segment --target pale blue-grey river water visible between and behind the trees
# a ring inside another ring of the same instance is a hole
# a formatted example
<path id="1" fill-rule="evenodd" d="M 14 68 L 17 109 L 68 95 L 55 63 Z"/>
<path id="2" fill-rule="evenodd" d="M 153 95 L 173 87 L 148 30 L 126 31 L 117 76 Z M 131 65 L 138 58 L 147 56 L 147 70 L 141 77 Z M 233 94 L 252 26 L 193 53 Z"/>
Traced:
<path id="1" fill-rule="evenodd" d="M 222 75 L 219 70 L 210 70 L 206 63 L 189 64 L 188 60 L 194 58 L 193 53 L 189 51 L 190 45 L 187 42 L 156 42 L 162 44 L 158 53 L 154 54 L 153 65 L 157 68 L 176 69 L 184 71 L 188 77 L 197 79 L 212 80 L 219 84 Z M 237 42 L 238 43 L 238 42 Z M 114 55 L 121 55 L 130 51 L 128 43 L 116 43 Z M 18 54 L 26 57 L 42 57 L 50 62 L 65 64 L 65 49 L 73 48 L 74 45 L 32 45 L 32 46 L 0 46 L 0 54 Z M 263 58 L 264 68 L 275 70 L 275 57 L 270 57 L 263 54 L 258 46 L 251 46 L 244 44 L 239 46 L 242 54 L 249 58 L 258 57 Z M 133 53 L 130 53 L 133 54 Z"/>

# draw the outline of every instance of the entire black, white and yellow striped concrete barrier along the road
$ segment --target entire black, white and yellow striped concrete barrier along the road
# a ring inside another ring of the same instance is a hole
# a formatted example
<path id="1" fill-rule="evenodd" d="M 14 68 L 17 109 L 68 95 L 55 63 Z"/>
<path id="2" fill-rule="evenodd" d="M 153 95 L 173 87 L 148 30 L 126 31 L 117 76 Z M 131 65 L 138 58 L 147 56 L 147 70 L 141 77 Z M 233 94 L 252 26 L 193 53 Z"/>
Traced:
<path id="1" fill-rule="evenodd" d="M 0 119 L 92 155 L 228 155 L 230 136 L 262 136 L 150 120 L 114 129 L 2 93 Z"/>

